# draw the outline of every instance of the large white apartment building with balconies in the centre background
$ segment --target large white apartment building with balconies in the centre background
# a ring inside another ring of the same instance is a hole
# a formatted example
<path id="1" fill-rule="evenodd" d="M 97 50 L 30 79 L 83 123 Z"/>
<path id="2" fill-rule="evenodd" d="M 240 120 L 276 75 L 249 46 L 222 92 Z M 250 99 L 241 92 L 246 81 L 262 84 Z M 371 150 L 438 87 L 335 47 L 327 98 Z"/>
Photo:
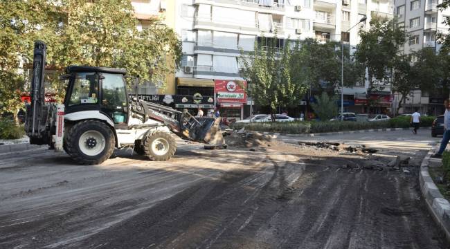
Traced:
<path id="1" fill-rule="evenodd" d="M 390 0 L 179 0 L 175 29 L 185 56 L 176 75 L 177 95 L 213 95 L 215 80 L 242 81 L 240 49 L 253 50 L 262 35 L 276 34 L 280 41 L 275 46 L 280 48 L 287 39 L 309 37 L 343 39 L 356 46 L 359 28 L 367 28 L 372 15 L 393 17 L 393 12 Z M 346 32 L 362 17 L 367 17 L 365 24 Z M 363 111 L 365 100 L 357 102 L 355 97 L 363 98 L 366 87 L 363 83 L 344 89 L 345 109 Z M 390 89 L 384 91 L 390 94 Z M 222 104 L 227 106 L 239 111 L 226 111 L 225 116 L 242 118 L 242 105 Z"/>

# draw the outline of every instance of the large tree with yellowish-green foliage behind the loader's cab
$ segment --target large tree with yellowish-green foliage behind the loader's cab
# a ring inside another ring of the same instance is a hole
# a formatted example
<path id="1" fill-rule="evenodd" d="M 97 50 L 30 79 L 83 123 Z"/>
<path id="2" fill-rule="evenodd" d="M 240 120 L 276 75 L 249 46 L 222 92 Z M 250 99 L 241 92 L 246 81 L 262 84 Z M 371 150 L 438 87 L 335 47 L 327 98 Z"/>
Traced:
<path id="1" fill-rule="evenodd" d="M 0 0 L 1 112 L 17 113 L 37 39 L 47 44 L 47 67 L 55 71 L 47 81 L 57 93 L 64 94 L 57 76 L 71 64 L 127 68 L 162 81 L 179 66 L 181 42 L 157 19 L 141 32 L 136 24 L 129 0 Z"/>

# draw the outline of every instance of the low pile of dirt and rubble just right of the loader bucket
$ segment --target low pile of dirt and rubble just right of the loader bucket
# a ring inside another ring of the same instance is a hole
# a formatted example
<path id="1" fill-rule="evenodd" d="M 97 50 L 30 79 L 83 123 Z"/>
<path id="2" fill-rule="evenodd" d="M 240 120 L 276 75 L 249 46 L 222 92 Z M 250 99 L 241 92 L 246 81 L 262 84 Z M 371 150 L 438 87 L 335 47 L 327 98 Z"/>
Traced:
<path id="1" fill-rule="evenodd" d="M 259 132 L 232 131 L 224 135 L 230 147 L 272 147 L 276 143 L 272 136 Z"/>

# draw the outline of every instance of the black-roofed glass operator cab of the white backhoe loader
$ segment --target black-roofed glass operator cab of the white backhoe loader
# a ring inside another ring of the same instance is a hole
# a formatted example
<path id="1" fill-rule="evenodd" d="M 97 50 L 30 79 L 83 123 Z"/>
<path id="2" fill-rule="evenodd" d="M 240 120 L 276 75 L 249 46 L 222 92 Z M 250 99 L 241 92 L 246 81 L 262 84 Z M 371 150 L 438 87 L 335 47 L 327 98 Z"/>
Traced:
<path id="1" fill-rule="evenodd" d="M 114 123 L 116 129 L 127 127 L 125 69 L 69 66 L 66 73 L 70 76 L 64 98 L 65 114 L 87 115 L 99 111 Z"/>

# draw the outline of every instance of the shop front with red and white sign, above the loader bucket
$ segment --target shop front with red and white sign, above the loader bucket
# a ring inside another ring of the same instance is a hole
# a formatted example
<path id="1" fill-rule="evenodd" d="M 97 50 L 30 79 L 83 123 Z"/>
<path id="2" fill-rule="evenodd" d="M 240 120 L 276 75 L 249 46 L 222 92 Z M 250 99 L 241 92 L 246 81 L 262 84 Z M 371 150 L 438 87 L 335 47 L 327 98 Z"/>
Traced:
<path id="1" fill-rule="evenodd" d="M 246 82 L 239 80 L 215 80 L 214 93 L 224 118 L 241 120 L 244 118 L 246 104 Z"/>

